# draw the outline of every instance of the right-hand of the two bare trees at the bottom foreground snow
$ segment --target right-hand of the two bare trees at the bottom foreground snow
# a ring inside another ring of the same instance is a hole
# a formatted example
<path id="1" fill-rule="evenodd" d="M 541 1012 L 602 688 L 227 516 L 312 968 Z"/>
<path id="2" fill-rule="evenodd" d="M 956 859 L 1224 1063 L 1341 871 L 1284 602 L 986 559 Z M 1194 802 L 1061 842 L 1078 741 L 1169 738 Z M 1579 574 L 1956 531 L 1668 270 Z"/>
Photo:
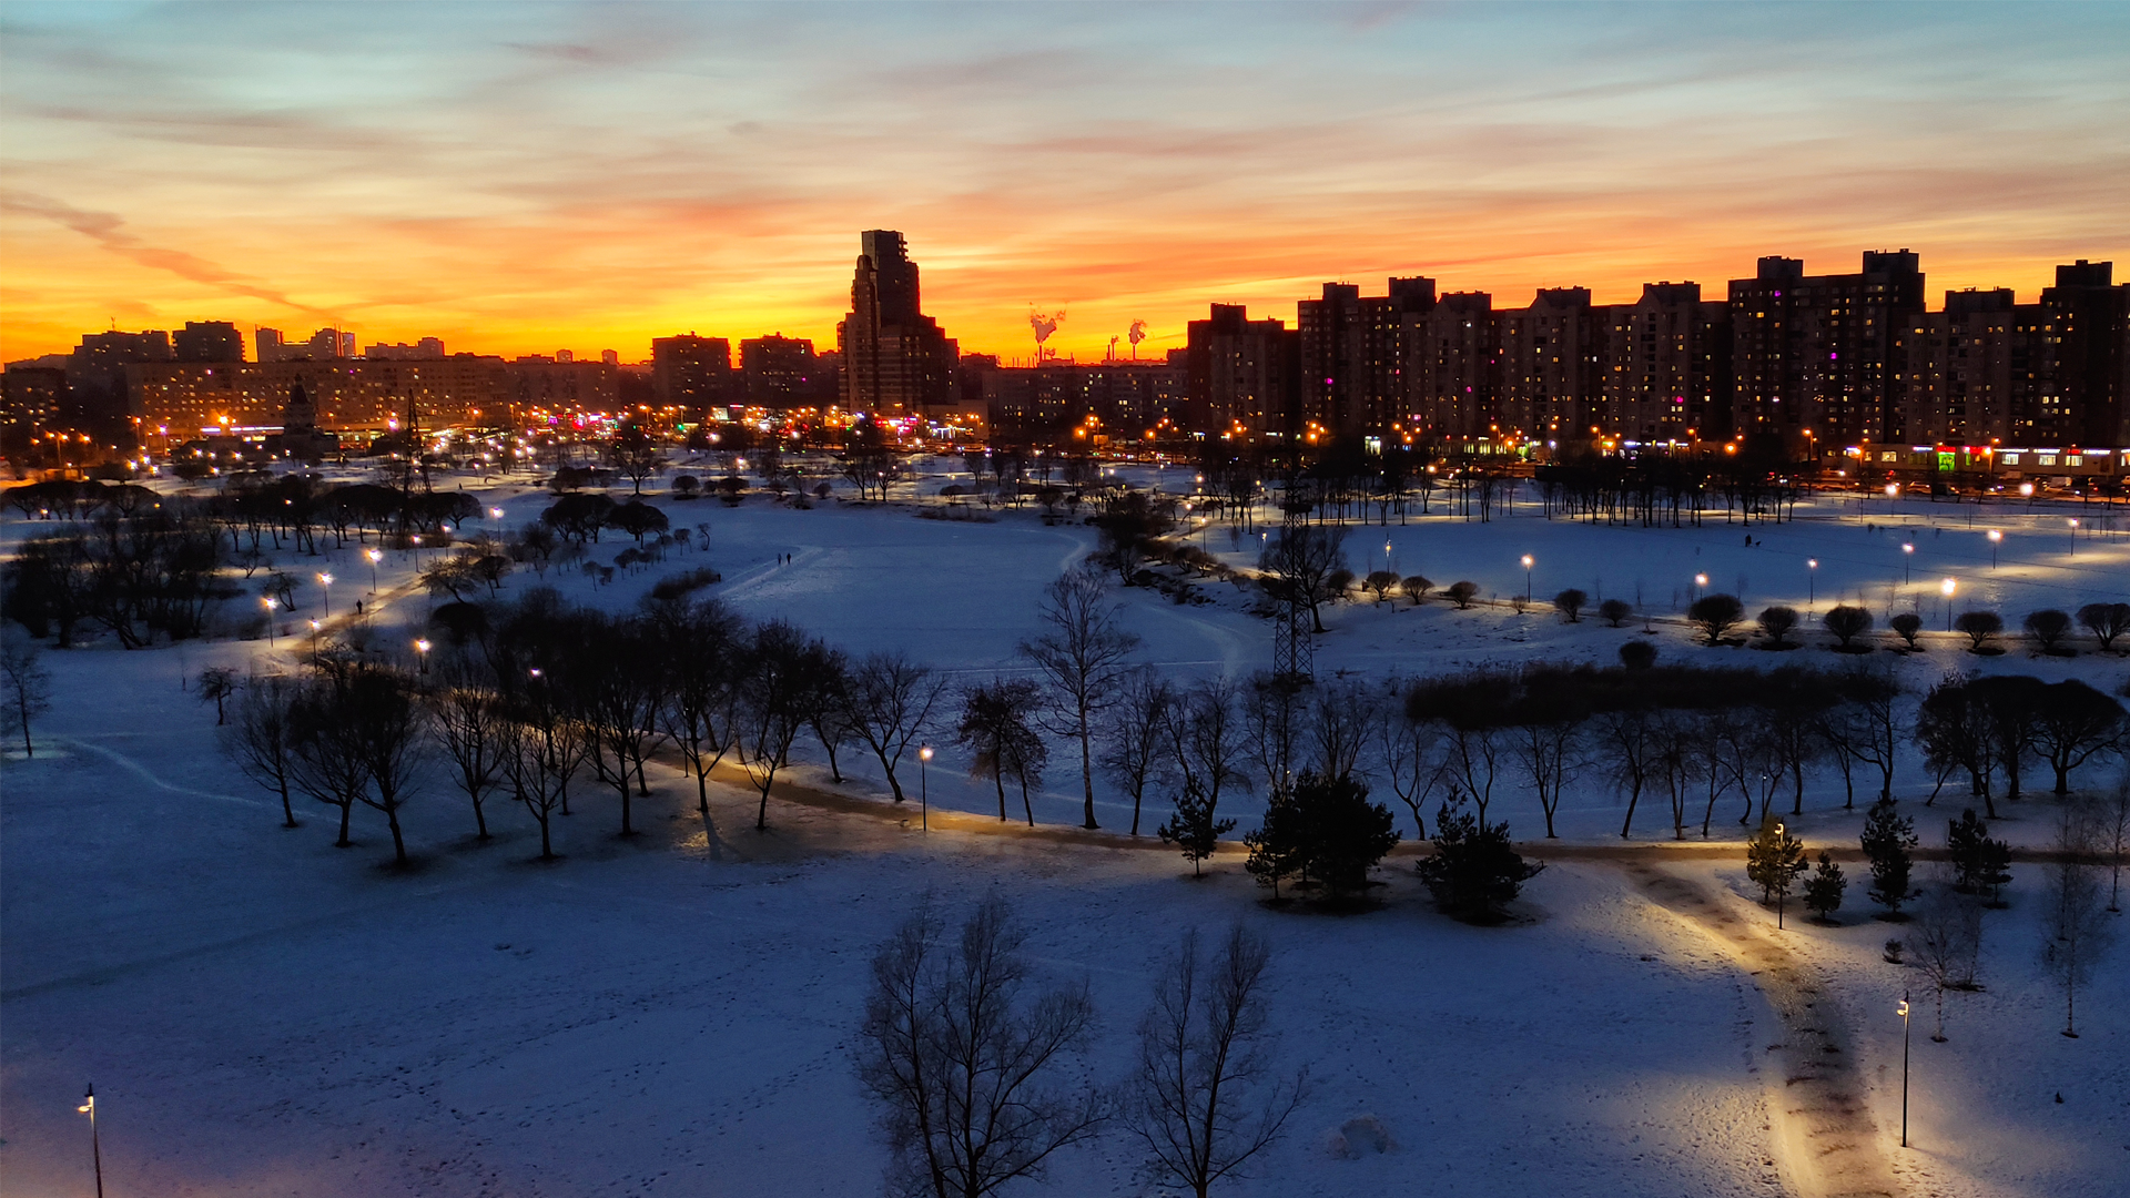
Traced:
<path id="1" fill-rule="evenodd" d="M 1140 1021 L 1140 1053 L 1125 1121 L 1152 1153 L 1161 1181 L 1206 1198 L 1214 1181 L 1280 1138 L 1301 1104 L 1308 1070 L 1272 1068 L 1261 987 L 1272 951 L 1242 925 L 1206 961 L 1197 929 L 1184 932 L 1154 1004 Z"/>

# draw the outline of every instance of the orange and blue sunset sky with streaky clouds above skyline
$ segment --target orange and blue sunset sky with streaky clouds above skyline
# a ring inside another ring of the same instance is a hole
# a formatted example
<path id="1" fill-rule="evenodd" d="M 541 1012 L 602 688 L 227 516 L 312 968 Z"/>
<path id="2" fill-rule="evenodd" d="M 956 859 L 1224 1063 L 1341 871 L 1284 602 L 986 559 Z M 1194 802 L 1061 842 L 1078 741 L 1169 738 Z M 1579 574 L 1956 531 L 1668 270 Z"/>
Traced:
<path id="1" fill-rule="evenodd" d="M 1031 311 L 1159 356 L 1329 279 L 1621 303 L 1762 254 L 2030 301 L 2130 275 L 2124 113 L 2126 4 L 13 2 L 0 358 L 185 320 L 831 347 L 865 228 L 1007 358 Z"/>

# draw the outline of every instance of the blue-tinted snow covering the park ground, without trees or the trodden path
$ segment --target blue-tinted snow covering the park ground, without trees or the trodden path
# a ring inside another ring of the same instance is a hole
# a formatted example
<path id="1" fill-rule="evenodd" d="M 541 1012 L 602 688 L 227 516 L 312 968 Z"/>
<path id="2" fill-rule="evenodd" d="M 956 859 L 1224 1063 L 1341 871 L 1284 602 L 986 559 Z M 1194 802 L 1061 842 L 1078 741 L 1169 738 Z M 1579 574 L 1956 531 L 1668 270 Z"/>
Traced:
<path id="1" fill-rule="evenodd" d="M 545 503 L 518 488 L 481 499 L 505 507 L 505 524 Z M 750 616 L 790 618 L 856 652 L 907 648 L 971 678 L 1016 669 L 1014 646 L 1035 633 L 1035 595 L 1093 544 L 1091 529 L 1044 527 L 1033 514 L 946 522 L 837 503 L 665 505 L 675 524 L 709 524 L 707 554 L 603 588 L 573 569 L 550 582 L 624 605 L 662 573 L 709 563 L 724 573 L 716 593 Z M 1561 586 L 1634 599 L 1640 586 L 1657 616 L 1683 603 L 1695 571 L 1742 593 L 1751 610 L 1804 608 L 1808 556 L 1819 558 L 1817 610 L 1855 597 L 1883 620 L 1894 586 L 1891 605 L 1917 597 L 1938 629 L 1940 578 L 1957 580 L 1955 612 L 1972 595 L 2011 625 L 2030 608 L 2130 597 L 2121 516 L 2109 527 L 2098 512 L 1985 512 L 1970 531 L 1968 509 L 1945 507 L 1930 522 L 1932 512 L 1806 507 L 1806 520 L 1755 524 L 1762 544 L 1744 546 L 1747 529 L 1721 520 L 1604 529 L 1546 522 L 1519 505 L 1487 524 L 1393 518 L 1387 531 L 1355 529 L 1348 548 L 1365 571 L 1389 537 L 1399 573 L 1472 578 L 1502 597 L 1523 590 L 1519 556 L 1531 554 L 1540 599 Z M 2075 558 L 2070 516 L 2083 522 Z M 1994 571 L 1983 537 L 1992 527 L 2006 533 Z M 0 535 L 15 544 L 26 531 L 36 529 L 9 522 Z M 1255 558 L 1225 527 L 1201 537 L 1238 563 Z M 1904 541 L 1917 548 L 1902 593 Z M 611 561 L 626 544 L 609 535 L 596 550 Z M 294 565 L 334 571 L 337 614 L 368 590 L 368 567 L 351 550 Z M 411 569 L 390 556 L 381 590 Z M 505 595 L 535 582 L 513 576 Z M 1248 599 L 1203 586 L 1214 603 L 1120 593 L 1146 637 L 1142 657 L 1180 678 L 1267 665 L 1269 633 Z M 415 620 L 417 603 L 392 599 L 377 618 Z M 1363 678 L 1474 661 L 1610 661 L 1623 640 L 1644 635 L 1640 625 L 1442 603 L 1344 605 L 1327 622 L 1318 674 Z M 1683 625 L 1661 620 L 1655 640 L 1666 659 L 1842 661 L 1823 648 L 1702 650 Z M 2121 659 L 2090 652 L 1977 659 L 1943 633 L 1926 644 L 1898 659 L 1913 684 L 1953 667 L 2079 676 L 2107 691 L 2126 678 Z M 422 868 L 390 874 L 379 868 L 390 859 L 381 823 L 360 823 L 371 812 L 358 814 L 362 844 L 351 851 L 330 846 L 324 814 L 279 829 L 279 812 L 217 757 L 213 710 L 179 691 L 202 665 L 288 661 L 290 648 L 96 646 L 47 657 L 55 703 L 38 755 L 11 755 L 0 776 L 9 1194 L 85 1192 L 87 1128 L 75 1102 L 89 1079 L 113 1194 L 871 1192 L 884 1151 L 850 1045 L 865 961 L 924 889 L 956 908 L 1007 895 L 1035 929 L 1042 966 L 1091 981 L 1099 1034 L 1086 1068 L 1103 1079 L 1120 1072 L 1159 957 L 1184 925 L 1259 927 L 1276 946 L 1280 1053 L 1310 1066 L 1314 1094 L 1259 1177 L 1233 1194 L 1840 1192 L 1840 1177 L 1813 1170 L 1815 1136 L 1828 1134 L 1853 1134 L 1855 1151 L 1911 1194 L 2130 1189 L 2130 944 L 2081 998 L 2083 1036 L 2058 1036 L 2062 1002 L 2036 966 L 2038 865 L 2015 868 L 2011 908 L 1989 914 L 1987 989 L 1949 1000 L 1951 1040 L 1934 1045 L 1928 1021 L 1917 1027 L 1917 1147 L 1902 1153 L 1891 1006 L 1921 981 L 1879 957 L 1896 932 L 1862 917 L 1862 887 L 1851 889 L 1845 927 L 1791 921 L 1779 934 L 1821 989 L 1815 1002 L 1834 1006 L 1849 1059 L 1840 1079 L 1859 1087 L 1840 1128 L 1815 1130 L 1825 1119 L 1796 1113 L 1779 1076 L 1783 1053 L 1770 1051 L 1793 1036 L 1764 998 L 1766 978 L 1755 978 L 1768 966 L 1727 932 L 1776 936 L 1768 912 L 1738 897 L 1742 859 L 1646 865 L 1685 887 L 1676 893 L 1706 900 L 1702 908 L 1657 902 L 1649 878 L 1621 861 L 1557 861 L 1531 883 L 1525 919 L 1495 929 L 1429 910 L 1393 859 L 1387 906 L 1338 919 L 1259 906 L 1238 855 L 1191 883 L 1163 851 L 963 825 L 920 833 L 895 816 L 797 804 L 775 804 L 775 829 L 758 836 L 735 789 L 720 791 L 705 829 L 692 787 L 654 772 L 658 797 L 639 808 L 650 836 L 616 840 L 611 799 L 588 795 L 558 833 L 558 865 L 530 861 L 535 829 L 501 804 L 501 836 L 473 844 L 462 804 L 435 784 L 409 810 Z M 831 789 L 812 767 L 801 780 Z M 865 770 L 841 791 L 878 795 Z M 1037 819 L 1076 823 L 1078 776 L 1067 765 L 1044 791 Z M 933 763 L 929 793 L 941 808 L 993 804 L 952 750 Z M 1913 763 L 1898 793 L 1928 793 Z M 1123 808 L 1101 797 L 1103 823 L 1116 827 Z M 1255 802 L 1235 799 L 1229 814 L 1248 821 Z M 1497 804 L 1519 833 L 1538 831 L 1531 799 L 1510 793 Z M 1840 810 L 1832 776 L 1815 782 L 1806 810 L 1808 842 L 1855 842 L 1857 814 Z M 1615 795 L 1580 787 L 1563 838 L 1606 842 L 1617 812 Z M 2041 844 L 2051 812 L 2049 802 L 2026 804 L 1998 833 Z M 1940 816 L 1921 816 L 1934 844 Z M 1657 819 L 1649 840 L 1661 836 Z M 1736 836 L 1723 819 L 1717 829 Z M 1921 1006 L 1928 1013 L 1928 1000 Z M 1327 1153 L 1327 1134 L 1363 1115 L 1389 1128 L 1395 1149 Z M 1123 1138 L 1103 1140 L 1063 1157 L 1050 1192 L 1137 1194 L 1135 1160 Z"/>

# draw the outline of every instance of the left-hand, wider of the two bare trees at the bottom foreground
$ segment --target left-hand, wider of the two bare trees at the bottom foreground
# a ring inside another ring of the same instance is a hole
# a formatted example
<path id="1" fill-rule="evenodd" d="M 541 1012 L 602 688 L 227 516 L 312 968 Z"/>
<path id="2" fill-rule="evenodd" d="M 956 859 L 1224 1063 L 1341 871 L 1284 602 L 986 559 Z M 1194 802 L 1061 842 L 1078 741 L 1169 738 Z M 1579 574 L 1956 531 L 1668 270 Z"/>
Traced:
<path id="1" fill-rule="evenodd" d="M 1025 995 L 1027 932 L 1001 900 L 958 942 L 941 934 L 927 897 L 873 955 L 858 1083 L 882 1106 L 890 1194 L 982 1198 L 1042 1179 L 1052 1153 L 1101 1128 L 1099 1091 L 1052 1081 L 1095 1004 L 1084 985 Z"/>

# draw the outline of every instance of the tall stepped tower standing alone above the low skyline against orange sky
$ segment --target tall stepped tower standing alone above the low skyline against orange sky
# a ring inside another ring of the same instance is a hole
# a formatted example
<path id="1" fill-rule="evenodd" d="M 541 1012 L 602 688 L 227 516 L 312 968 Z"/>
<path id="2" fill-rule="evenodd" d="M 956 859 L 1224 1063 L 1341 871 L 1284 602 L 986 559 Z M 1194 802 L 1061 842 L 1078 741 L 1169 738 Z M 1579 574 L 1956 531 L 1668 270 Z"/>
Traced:
<path id="1" fill-rule="evenodd" d="M 850 313 L 835 326 L 843 356 L 843 407 L 878 416 L 918 416 L 954 401 L 958 347 L 924 315 L 918 264 L 903 234 L 858 234 Z"/>

